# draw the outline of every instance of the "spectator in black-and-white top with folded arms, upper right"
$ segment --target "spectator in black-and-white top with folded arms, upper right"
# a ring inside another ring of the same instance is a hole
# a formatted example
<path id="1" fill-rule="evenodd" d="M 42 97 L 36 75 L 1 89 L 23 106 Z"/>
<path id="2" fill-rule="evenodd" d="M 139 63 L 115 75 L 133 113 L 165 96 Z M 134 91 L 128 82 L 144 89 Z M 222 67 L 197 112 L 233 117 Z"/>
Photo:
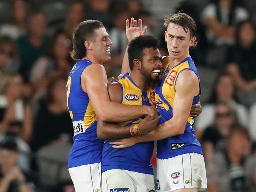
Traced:
<path id="1" fill-rule="evenodd" d="M 228 45 L 235 42 L 237 24 L 249 17 L 246 9 L 239 6 L 238 0 L 213 0 L 202 11 L 201 21 L 206 26 L 209 41 L 209 65 L 224 64 L 224 53 Z"/>

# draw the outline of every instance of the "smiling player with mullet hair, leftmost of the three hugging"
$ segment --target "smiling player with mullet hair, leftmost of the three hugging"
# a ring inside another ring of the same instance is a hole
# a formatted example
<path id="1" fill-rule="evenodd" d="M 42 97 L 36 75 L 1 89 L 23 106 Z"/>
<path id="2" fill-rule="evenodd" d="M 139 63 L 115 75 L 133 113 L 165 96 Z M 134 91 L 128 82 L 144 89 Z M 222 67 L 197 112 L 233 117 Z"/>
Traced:
<path id="1" fill-rule="evenodd" d="M 71 55 L 78 62 L 70 71 L 66 86 L 67 104 L 74 128 L 68 168 L 76 192 L 99 192 L 104 140 L 97 138 L 98 119 L 124 122 L 147 116 L 147 122 L 139 127 L 141 132 L 147 133 L 156 126 L 158 114 L 155 107 L 122 105 L 109 100 L 103 63 L 111 58 L 112 42 L 102 22 L 81 22 L 72 41 Z M 135 130 L 135 127 L 131 130 Z"/>

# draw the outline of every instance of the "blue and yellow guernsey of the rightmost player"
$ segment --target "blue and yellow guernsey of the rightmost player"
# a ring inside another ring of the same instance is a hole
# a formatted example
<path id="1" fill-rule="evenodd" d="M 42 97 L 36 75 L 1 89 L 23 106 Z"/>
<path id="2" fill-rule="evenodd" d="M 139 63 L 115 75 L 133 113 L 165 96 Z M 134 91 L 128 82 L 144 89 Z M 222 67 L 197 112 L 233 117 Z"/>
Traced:
<path id="1" fill-rule="evenodd" d="M 165 57 L 162 64 L 167 67 L 165 68 L 161 83 L 156 85 L 155 88 L 156 106 L 159 114 L 161 115 L 159 124 L 162 124 L 173 117 L 175 85 L 180 72 L 183 70 L 192 70 L 199 79 L 197 68 L 195 67 L 191 57 L 187 57 L 171 69 L 168 69 L 169 57 Z M 198 102 L 199 95 L 200 93 L 198 96 L 193 98 L 193 104 Z M 157 157 L 159 159 L 168 159 L 185 153 L 194 152 L 202 154 L 202 148 L 198 140 L 195 138 L 195 130 L 193 129 L 192 124 L 193 118 L 189 117 L 187 119 L 184 134 L 158 140 Z"/>

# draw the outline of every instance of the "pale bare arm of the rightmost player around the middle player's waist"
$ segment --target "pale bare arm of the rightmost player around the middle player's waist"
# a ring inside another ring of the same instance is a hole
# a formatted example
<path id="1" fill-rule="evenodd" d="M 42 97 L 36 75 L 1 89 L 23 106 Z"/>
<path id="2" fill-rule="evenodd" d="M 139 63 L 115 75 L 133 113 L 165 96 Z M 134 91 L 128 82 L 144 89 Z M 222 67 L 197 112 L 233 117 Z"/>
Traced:
<path id="1" fill-rule="evenodd" d="M 176 80 L 175 96 L 173 103 L 173 118 L 160 124 L 154 131 L 130 140 L 117 140 L 111 142 L 116 144 L 114 148 L 124 148 L 138 142 L 160 140 L 184 133 L 187 119 L 189 117 L 194 96 L 199 93 L 199 81 L 196 74 L 191 70 L 180 72 Z"/>

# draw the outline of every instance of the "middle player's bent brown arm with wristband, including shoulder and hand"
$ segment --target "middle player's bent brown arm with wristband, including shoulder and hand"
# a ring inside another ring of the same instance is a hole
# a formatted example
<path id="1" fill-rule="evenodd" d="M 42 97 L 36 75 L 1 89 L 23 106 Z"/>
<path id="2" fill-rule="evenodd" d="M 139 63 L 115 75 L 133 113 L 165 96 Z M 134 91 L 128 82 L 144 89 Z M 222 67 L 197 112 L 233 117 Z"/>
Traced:
<path id="1" fill-rule="evenodd" d="M 111 101 L 120 103 L 122 98 L 122 89 L 119 83 L 114 82 L 108 86 L 109 98 Z M 145 134 L 152 131 L 160 117 L 153 118 L 152 116 L 147 116 L 144 120 L 139 124 L 139 134 Z M 127 138 L 135 136 L 131 126 L 119 126 L 116 124 L 110 124 L 104 122 L 102 120 L 98 120 L 97 123 L 97 136 L 99 139 L 116 139 L 116 138 Z"/>

